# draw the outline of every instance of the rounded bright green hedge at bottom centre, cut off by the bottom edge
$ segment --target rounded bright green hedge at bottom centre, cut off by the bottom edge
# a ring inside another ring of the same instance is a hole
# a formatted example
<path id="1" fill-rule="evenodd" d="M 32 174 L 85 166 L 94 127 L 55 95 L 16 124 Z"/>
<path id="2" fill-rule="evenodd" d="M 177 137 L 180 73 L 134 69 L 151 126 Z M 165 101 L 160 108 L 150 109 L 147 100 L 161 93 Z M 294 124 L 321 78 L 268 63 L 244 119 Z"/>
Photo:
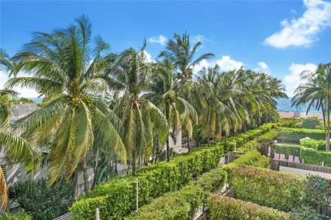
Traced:
<path id="1" fill-rule="evenodd" d="M 205 192 L 199 186 L 188 185 L 176 192 L 168 192 L 163 197 L 154 199 L 125 219 L 192 219 L 201 206 Z"/>

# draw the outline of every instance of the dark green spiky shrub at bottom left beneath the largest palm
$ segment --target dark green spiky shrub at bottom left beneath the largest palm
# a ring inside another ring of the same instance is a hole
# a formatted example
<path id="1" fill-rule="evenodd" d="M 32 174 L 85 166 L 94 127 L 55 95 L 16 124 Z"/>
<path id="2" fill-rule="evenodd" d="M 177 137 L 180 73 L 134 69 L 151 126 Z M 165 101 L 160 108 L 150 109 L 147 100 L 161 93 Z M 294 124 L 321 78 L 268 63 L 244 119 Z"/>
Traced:
<path id="1" fill-rule="evenodd" d="M 68 204 L 74 200 L 74 188 L 65 179 L 50 187 L 46 179 L 26 179 L 10 186 L 9 197 L 33 219 L 54 219 L 68 211 Z"/>

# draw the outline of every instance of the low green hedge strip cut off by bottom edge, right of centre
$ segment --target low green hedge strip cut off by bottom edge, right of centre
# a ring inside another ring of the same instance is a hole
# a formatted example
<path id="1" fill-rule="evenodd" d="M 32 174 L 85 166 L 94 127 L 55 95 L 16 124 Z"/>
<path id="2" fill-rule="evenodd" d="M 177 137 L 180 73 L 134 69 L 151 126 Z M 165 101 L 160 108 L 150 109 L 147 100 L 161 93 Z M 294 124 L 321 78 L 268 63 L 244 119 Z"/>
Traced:
<path id="1" fill-rule="evenodd" d="M 282 220 L 290 219 L 290 214 L 259 206 L 249 201 L 241 201 L 230 197 L 212 195 L 208 201 L 210 220 L 230 219 L 260 219 L 260 220 Z"/>

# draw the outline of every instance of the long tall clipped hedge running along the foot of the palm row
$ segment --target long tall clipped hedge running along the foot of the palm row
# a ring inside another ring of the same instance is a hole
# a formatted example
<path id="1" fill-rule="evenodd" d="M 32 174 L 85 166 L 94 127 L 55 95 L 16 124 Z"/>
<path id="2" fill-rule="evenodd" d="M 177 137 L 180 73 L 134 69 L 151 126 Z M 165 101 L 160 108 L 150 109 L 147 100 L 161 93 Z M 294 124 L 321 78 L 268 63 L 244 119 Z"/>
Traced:
<path id="1" fill-rule="evenodd" d="M 248 142 L 273 127 L 274 124 L 264 124 L 238 138 L 242 143 Z M 236 137 L 229 139 L 235 140 Z M 138 170 L 136 177 L 117 177 L 99 185 L 90 192 L 90 197 L 81 197 L 72 205 L 72 219 L 94 219 L 95 208 L 99 208 L 101 219 L 126 217 L 135 208 L 134 179 L 139 180 L 139 206 L 143 206 L 166 192 L 179 190 L 201 173 L 217 167 L 223 155 L 224 143 L 196 148 L 190 153 L 172 158 L 168 163 L 143 167 Z"/>

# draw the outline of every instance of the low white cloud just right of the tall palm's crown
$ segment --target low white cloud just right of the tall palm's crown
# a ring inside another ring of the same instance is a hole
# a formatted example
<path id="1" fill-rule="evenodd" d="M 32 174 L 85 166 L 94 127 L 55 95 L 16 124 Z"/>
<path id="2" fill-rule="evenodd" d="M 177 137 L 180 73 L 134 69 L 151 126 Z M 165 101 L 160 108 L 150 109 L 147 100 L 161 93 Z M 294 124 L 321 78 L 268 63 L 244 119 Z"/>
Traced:
<path id="1" fill-rule="evenodd" d="M 221 59 L 218 59 L 216 61 L 206 61 L 203 60 L 199 63 L 199 65 L 196 65 L 194 67 L 194 73 L 197 74 L 203 67 L 214 67 L 214 65 L 219 65 L 219 68 L 221 71 L 230 71 L 233 69 L 240 69 L 244 64 L 240 61 L 234 61 L 230 56 L 222 56 Z"/>

